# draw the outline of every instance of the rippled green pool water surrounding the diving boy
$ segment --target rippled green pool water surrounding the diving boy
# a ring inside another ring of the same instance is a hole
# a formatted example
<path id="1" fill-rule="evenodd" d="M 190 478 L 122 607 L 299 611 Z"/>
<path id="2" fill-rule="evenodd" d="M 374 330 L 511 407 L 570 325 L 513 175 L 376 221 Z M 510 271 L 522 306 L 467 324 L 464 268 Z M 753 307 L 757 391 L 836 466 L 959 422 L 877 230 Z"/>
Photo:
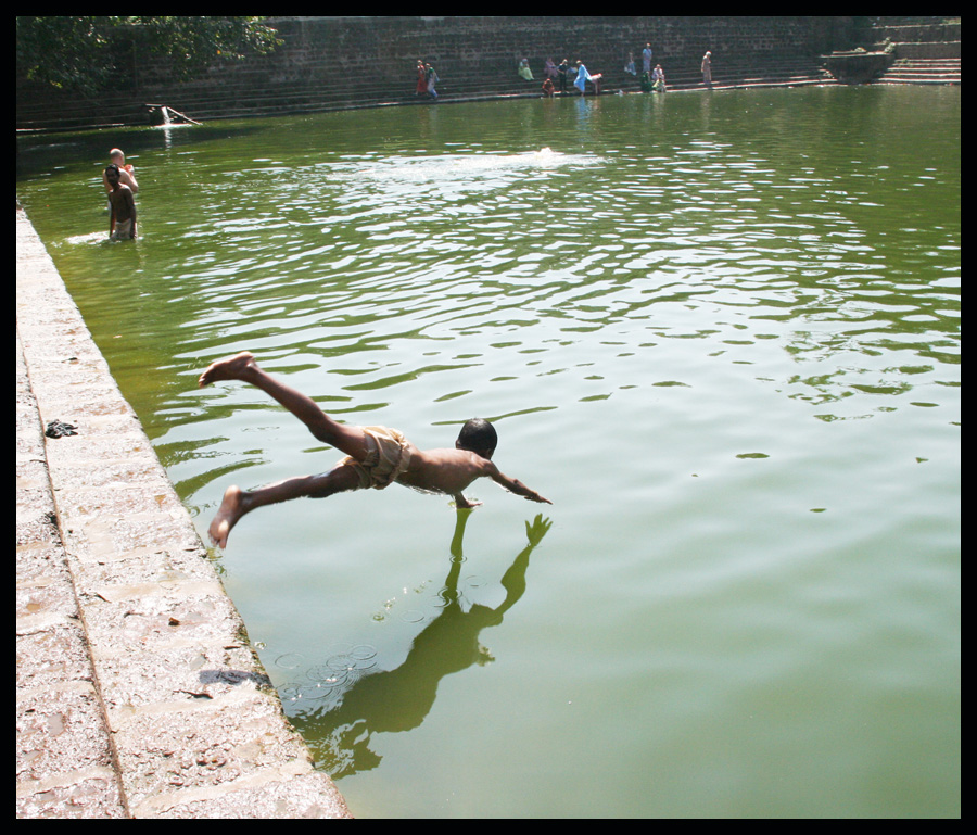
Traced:
<path id="1" fill-rule="evenodd" d="M 959 88 L 18 142 L 202 532 L 339 457 L 195 388 L 242 349 L 422 447 L 494 419 L 554 501 L 306 499 L 217 555 L 354 813 L 960 814 Z M 113 146 L 135 244 L 103 240 Z"/>

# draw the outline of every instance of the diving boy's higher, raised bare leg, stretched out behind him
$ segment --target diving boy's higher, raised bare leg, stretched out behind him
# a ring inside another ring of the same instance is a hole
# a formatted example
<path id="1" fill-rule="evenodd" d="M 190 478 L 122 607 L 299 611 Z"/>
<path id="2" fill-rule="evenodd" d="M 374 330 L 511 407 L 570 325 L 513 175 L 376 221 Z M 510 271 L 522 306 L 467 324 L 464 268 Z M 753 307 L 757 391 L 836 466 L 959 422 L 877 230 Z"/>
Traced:
<path id="1" fill-rule="evenodd" d="M 277 400 L 297 417 L 322 443 L 330 444 L 358 461 L 367 454 L 366 435 L 361 427 L 339 423 L 320 409 L 315 401 L 300 391 L 275 379 L 254 362 L 254 356 L 242 351 L 226 359 L 218 359 L 200 376 L 201 388 L 218 380 L 241 380 L 256 385 Z"/>

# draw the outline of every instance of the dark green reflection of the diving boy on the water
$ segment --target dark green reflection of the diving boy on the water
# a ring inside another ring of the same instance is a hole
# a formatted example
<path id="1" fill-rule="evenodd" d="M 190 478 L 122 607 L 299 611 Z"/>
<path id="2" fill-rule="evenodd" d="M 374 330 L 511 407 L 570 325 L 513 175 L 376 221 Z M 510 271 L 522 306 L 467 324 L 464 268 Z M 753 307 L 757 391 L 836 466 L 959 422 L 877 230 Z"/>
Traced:
<path id="1" fill-rule="evenodd" d="M 522 597 L 530 554 L 553 522 L 540 514 L 525 523 L 529 543 L 502 578 L 505 600 L 496 608 L 472 604 L 464 611 L 458 578 L 461 540 L 470 515 L 470 509 L 457 510 L 452 567 L 440 592 L 443 609 L 414 640 L 404 662 L 394 670 L 368 672 L 355 679 L 341 696 L 330 698 L 328 706 L 312 707 L 291 717 L 315 751 L 316 764 L 333 777 L 376 768 L 380 757 L 370 750 L 370 737 L 420 725 L 434 704 L 442 678 L 473 663 L 495 660 L 479 644 L 479 633 L 485 627 L 502 623 L 503 616 Z"/>

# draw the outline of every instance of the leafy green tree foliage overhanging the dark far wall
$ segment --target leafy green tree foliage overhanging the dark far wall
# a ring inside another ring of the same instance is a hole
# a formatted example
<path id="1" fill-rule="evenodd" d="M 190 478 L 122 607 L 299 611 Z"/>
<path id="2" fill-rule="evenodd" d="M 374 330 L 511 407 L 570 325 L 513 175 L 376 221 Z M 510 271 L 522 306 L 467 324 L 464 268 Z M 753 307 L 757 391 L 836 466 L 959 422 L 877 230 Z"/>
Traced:
<path id="1" fill-rule="evenodd" d="M 214 61 L 267 54 L 282 41 L 263 17 L 17 17 L 17 75 L 94 94 L 131 55 L 132 43 L 163 56 L 175 80 Z"/>

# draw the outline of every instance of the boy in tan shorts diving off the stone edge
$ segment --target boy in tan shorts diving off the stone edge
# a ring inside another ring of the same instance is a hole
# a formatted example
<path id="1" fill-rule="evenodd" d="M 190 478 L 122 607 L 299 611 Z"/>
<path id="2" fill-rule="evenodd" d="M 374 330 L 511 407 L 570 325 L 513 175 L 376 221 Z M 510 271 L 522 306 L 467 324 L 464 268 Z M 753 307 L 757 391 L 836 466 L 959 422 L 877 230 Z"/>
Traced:
<path id="1" fill-rule="evenodd" d="M 212 364 L 200 376 L 199 383 L 203 387 L 218 380 L 241 380 L 256 385 L 305 423 L 316 439 L 347 456 L 319 476 L 286 479 L 254 491 L 228 488 L 210 527 L 211 539 L 220 547 L 227 544 L 228 534 L 241 517 L 256 507 L 302 496 L 326 498 L 346 490 L 383 490 L 394 481 L 418 490 L 447 493 L 454 496 L 456 507 L 481 504 L 461 494 L 480 478 L 491 478 L 532 502 L 553 504 L 521 481 L 503 475 L 492 463 L 497 437 L 487 420 L 474 418 L 461 427 L 454 450 L 422 451 L 395 429 L 338 423 L 310 397 L 259 368 L 246 351 Z"/>

